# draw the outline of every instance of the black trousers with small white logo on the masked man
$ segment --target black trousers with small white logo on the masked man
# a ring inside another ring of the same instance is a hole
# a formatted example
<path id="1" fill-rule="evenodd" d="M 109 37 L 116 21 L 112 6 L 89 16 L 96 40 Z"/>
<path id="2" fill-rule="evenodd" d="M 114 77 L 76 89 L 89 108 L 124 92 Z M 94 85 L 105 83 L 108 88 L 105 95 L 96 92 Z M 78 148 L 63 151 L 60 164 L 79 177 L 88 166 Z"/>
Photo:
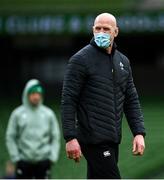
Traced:
<path id="1" fill-rule="evenodd" d="M 88 179 L 121 179 L 117 166 L 118 145 L 80 145 L 87 160 Z"/>

